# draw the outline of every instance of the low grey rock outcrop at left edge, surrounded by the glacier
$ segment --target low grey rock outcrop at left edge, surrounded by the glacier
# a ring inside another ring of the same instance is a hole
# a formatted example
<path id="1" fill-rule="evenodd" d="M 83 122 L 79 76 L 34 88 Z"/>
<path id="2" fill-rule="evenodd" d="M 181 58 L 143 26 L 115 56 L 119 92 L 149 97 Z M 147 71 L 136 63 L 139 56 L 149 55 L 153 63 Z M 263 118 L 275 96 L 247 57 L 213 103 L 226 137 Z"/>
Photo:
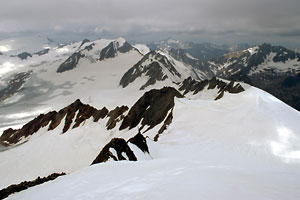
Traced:
<path id="1" fill-rule="evenodd" d="M 32 71 L 22 72 L 13 76 L 7 84 L 7 87 L 0 91 L 0 102 L 8 99 L 17 93 L 25 82 L 30 78 Z"/>

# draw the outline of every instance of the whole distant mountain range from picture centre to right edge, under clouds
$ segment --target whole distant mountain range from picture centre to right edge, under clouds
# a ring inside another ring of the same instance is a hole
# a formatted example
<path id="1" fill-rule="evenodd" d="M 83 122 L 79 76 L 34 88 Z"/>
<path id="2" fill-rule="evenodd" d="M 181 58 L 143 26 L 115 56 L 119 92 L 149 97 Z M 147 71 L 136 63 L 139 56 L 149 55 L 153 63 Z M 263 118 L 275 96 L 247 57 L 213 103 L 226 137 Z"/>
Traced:
<path id="1" fill-rule="evenodd" d="M 212 45 L 208 46 L 211 47 L 215 57 L 196 59 L 190 56 L 189 51 L 193 47 L 187 44 L 164 41 L 160 46 L 158 45 L 160 48 L 167 49 L 177 60 L 204 72 L 207 77 L 217 76 L 248 83 L 300 110 L 300 54 L 297 51 L 265 43 L 251 48 L 248 45 L 240 45 L 242 50 L 232 52 L 227 50 L 220 55 Z M 207 53 L 207 51 L 202 52 Z"/>

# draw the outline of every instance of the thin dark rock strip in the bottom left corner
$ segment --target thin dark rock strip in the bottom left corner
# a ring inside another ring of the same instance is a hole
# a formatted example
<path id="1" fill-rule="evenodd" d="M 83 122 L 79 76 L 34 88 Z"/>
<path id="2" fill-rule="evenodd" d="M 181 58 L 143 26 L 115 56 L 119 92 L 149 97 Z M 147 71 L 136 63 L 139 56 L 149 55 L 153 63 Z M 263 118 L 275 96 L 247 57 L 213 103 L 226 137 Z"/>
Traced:
<path id="1" fill-rule="evenodd" d="M 8 197 L 9 195 L 11 195 L 13 193 L 21 192 L 30 187 L 34 187 L 36 185 L 40 185 L 40 184 L 43 184 L 48 181 L 52 181 L 63 175 L 66 175 L 66 173 L 64 173 L 64 172 L 63 173 L 54 173 L 54 174 L 51 174 L 51 175 L 43 177 L 43 178 L 38 177 L 37 179 L 35 179 L 33 181 L 24 181 L 19 184 L 10 185 L 7 188 L 0 190 L 0 199 L 5 199 L 6 197 Z"/>

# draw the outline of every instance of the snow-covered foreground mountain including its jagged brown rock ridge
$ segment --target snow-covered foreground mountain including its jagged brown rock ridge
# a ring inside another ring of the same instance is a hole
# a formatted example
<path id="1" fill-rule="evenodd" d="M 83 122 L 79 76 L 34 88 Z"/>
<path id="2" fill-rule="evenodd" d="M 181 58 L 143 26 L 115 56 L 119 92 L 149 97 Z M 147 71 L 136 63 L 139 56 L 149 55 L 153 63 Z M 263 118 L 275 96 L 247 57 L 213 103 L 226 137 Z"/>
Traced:
<path id="1" fill-rule="evenodd" d="M 246 84 L 238 86 L 244 91 L 214 100 L 212 92 L 218 94 L 217 87 L 231 83 L 218 79 L 204 87 L 198 83 L 187 79 L 180 84 L 185 96 L 171 87 L 150 90 L 130 109 L 107 110 L 98 121 L 92 114 L 97 110 L 90 112 L 94 108 L 75 101 L 62 109 L 66 116 L 61 116 L 64 120 L 55 129 L 48 128 L 49 121 L 23 137 L 20 145 L 1 152 L 0 158 L 6 162 L 0 172 L 9 174 L 2 176 L 1 187 L 64 171 L 67 175 L 10 197 L 83 199 L 92 195 L 118 199 L 126 194 L 128 198 L 206 195 L 231 199 L 231 187 L 238 198 L 298 196 L 299 191 L 290 186 L 299 182 L 299 112 Z M 201 92 L 186 89 L 192 87 Z M 73 128 L 63 133 L 70 119 Z M 115 126 L 109 129 L 111 122 Z M 163 132 L 155 140 L 160 130 Z M 114 162 L 118 160 L 123 162 Z M 178 188 L 178 180 L 188 186 Z"/>

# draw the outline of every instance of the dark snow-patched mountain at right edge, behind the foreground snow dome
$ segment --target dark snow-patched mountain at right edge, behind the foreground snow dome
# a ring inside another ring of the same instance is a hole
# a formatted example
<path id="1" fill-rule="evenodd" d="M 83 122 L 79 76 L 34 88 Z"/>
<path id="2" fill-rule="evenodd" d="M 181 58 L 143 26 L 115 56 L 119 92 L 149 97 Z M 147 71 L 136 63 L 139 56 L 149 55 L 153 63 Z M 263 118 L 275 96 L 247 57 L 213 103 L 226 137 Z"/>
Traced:
<path id="1" fill-rule="evenodd" d="M 300 54 L 295 51 L 262 44 L 226 54 L 209 66 L 218 77 L 261 88 L 300 110 Z"/>

